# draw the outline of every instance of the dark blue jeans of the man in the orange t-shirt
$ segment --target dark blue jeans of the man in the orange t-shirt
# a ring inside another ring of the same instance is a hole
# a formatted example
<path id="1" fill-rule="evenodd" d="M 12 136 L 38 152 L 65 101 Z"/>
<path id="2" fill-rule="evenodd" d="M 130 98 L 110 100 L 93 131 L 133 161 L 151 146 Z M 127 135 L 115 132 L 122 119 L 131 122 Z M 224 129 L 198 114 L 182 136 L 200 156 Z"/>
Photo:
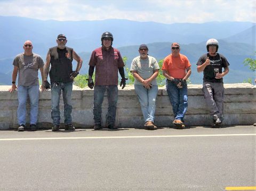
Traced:
<path id="1" fill-rule="evenodd" d="M 172 104 L 172 110 L 175 119 L 184 121 L 185 113 L 188 109 L 188 87 L 186 84 L 179 89 L 174 82 L 166 82 L 166 90 L 169 96 L 169 99 Z"/>

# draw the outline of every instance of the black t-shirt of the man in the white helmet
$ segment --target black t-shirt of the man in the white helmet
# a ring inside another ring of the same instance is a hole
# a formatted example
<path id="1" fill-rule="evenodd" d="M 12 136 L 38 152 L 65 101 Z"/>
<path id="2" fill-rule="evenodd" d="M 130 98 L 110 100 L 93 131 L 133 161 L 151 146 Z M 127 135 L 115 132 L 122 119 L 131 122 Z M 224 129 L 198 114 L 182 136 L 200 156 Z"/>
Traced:
<path id="1" fill-rule="evenodd" d="M 216 56 L 211 56 L 209 53 L 202 55 L 199 60 L 197 61 L 196 65 L 202 65 L 205 63 L 207 57 L 211 60 L 210 65 L 207 65 L 204 69 L 204 78 L 203 81 L 209 82 L 223 82 L 223 78 L 216 79 L 214 75 L 214 68 L 219 69 L 219 73 L 222 73 L 222 68 L 227 68 L 229 63 L 225 56 L 222 54 L 217 53 Z"/>

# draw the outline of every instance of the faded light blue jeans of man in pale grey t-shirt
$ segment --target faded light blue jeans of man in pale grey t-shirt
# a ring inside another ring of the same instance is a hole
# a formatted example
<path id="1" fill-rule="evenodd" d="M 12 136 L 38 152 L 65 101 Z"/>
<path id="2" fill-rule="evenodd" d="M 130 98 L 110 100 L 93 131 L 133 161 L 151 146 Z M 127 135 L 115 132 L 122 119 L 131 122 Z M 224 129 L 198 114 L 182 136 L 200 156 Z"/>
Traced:
<path id="1" fill-rule="evenodd" d="M 158 86 L 155 85 L 150 89 L 146 89 L 141 85 L 134 85 L 134 89 L 138 95 L 141 111 L 145 122 L 154 122 Z"/>

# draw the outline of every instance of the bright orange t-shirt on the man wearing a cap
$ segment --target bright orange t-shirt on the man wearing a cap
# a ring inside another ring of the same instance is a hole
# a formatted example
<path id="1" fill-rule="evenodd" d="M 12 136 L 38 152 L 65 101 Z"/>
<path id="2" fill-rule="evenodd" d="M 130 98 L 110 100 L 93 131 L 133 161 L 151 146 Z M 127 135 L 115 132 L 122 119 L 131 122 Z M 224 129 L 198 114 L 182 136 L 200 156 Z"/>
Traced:
<path id="1" fill-rule="evenodd" d="M 191 64 L 187 56 L 180 54 L 174 57 L 170 54 L 165 57 L 162 70 L 167 71 L 169 76 L 173 78 L 184 78 L 188 67 L 191 67 Z"/>

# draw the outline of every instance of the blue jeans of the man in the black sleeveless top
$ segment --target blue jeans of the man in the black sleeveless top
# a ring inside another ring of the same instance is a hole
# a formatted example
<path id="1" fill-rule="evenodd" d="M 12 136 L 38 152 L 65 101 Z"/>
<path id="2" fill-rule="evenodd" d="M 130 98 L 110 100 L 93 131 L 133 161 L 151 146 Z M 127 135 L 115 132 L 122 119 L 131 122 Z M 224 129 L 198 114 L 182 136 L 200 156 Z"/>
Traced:
<path id="1" fill-rule="evenodd" d="M 67 82 L 59 84 L 51 83 L 51 95 L 52 95 L 52 120 L 53 124 L 60 124 L 60 94 L 62 90 L 63 102 L 64 102 L 64 122 L 65 124 L 72 123 L 72 105 L 71 105 L 71 93 L 73 89 L 73 83 Z"/>

